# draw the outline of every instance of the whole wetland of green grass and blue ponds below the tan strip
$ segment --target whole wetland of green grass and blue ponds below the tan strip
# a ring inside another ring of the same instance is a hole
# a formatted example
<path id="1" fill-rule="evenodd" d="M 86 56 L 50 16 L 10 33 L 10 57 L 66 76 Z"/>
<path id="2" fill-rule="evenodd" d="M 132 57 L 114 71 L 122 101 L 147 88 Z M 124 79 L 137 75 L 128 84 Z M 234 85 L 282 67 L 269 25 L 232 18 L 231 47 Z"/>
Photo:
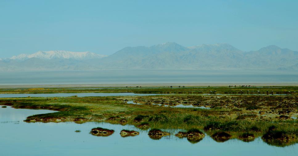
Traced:
<path id="1" fill-rule="evenodd" d="M 20 88 L 0 94 L 0 105 L 6 106 L 0 108 L 0 148 L 7 155 L 19 154 L 6 150 L 9 145 L 21 146 L 22 141 L 10 140 L 18 137 L 34 138 L 22 145 L 35 146 L 32 155 L 48 146 L 61 152 L 70 148 L 62 153 L 74 155 L 76 149 L 111 155 L 112 148 L 120 152 L 133 147 L 157 149 L 147 155 L 183 151 L 191 155 L 195 150 L 221 155 L 298 154 L 297 87 Z M 35 96 L 39 94 L 43 96 Z M 55 140 L 61 137 L 62 142 Z M 37 144 L 38 139 L 44 142 Z M 96 145 L 98 149 L 92 149 Z M 137 155 L 137 151 L 120 153 Z"/>

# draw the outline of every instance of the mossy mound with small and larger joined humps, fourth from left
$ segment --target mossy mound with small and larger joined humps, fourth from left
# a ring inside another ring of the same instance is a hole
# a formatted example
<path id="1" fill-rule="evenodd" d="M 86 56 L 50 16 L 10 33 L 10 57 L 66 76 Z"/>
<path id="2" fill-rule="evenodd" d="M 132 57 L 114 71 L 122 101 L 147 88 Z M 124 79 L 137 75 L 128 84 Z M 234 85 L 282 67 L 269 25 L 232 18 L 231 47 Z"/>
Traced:
<path id="1" fill-rule="evenodd" d="M 187 132 L 180 131 L 175 136 L 177 136 L 179 138 L 186 137 L 189 142 L 197 143 L 205 137 L 205 134 L 198 129 L 190 129 Z"/>

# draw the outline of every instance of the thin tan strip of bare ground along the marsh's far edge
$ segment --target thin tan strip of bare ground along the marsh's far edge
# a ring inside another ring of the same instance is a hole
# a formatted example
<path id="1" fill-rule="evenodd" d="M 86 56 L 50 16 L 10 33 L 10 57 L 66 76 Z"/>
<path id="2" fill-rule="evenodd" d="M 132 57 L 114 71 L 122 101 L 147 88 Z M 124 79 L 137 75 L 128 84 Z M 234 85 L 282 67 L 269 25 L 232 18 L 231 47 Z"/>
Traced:
<path id="1" fill-rule="evenodd" d="M 298 83 L 171 83 L 171 84 L 46 84 L 46 85 L 0 85 L 0 89 L 22 89 L 22 88 L 109 88 L 109 87 L 222 87 L 229 85 L 251 85 L 251 86 L 298 86 Z"/>

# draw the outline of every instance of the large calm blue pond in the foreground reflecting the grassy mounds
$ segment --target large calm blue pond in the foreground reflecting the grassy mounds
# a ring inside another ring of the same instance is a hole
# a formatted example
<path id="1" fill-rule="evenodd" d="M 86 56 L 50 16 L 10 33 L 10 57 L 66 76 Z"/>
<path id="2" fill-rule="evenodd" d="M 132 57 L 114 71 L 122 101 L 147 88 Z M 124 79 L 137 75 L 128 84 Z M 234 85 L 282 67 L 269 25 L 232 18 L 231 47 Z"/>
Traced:
<path id="1" fill-rule="evenodd" d="M 48 110 L 14 109 L 0 107 L 0 151 L 1 155 L 298 155 L 298 144 L 276 147 L 260 138 L 252 142 L 231 139 L 215 142 L 208 135 L 200 142 L 192 144 L 186 138 L 173 135 L 159 140 L 149 138 L 148 130 L 141 131 L 132 125 L 109 123 L 26 123 L 28 115 L 50 113 Z M 112 129 L 108 137 L 91 135 L 94 127 Z M 121 137 L 122 129 L 140 132 L 137 136 Z M 77 133 L 76 130 L 81 132 Z"/>

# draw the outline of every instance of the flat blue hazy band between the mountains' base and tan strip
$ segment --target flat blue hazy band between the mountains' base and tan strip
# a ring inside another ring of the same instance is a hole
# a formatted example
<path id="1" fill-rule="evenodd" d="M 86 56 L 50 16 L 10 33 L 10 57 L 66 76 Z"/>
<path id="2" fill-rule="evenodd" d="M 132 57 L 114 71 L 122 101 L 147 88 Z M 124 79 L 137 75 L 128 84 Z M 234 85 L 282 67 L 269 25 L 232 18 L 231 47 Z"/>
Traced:
<path id="1" fill-rule="evenodd" d="M 0 72 L 0 85 L 161 84 L 161 83 L 294 83 L 297 72 L 222 70 L 100 70 Z"/>

